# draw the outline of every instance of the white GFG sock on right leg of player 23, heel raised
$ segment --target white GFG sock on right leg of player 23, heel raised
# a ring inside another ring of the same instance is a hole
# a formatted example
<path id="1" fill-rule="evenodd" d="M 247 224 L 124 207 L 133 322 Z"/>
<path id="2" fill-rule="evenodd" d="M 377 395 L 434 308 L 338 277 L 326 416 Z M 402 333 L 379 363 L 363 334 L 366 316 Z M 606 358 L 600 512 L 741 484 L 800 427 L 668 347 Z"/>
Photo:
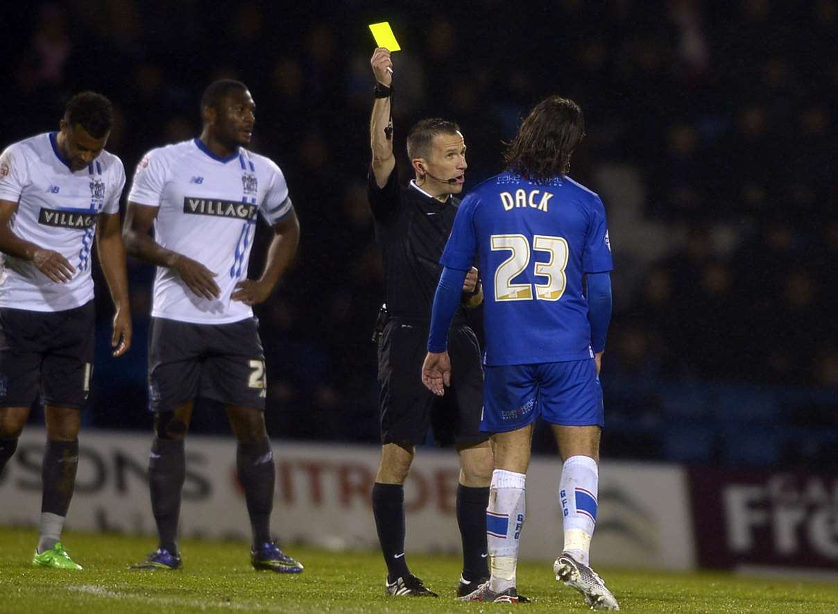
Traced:
<path id="1" fill-rule="evenodd" d="M 597 524 L 599 469 L 591 457 L 570 457 L 561 467 L 559 500 L 565 529 L 563 552 L 588 565 Z"/>

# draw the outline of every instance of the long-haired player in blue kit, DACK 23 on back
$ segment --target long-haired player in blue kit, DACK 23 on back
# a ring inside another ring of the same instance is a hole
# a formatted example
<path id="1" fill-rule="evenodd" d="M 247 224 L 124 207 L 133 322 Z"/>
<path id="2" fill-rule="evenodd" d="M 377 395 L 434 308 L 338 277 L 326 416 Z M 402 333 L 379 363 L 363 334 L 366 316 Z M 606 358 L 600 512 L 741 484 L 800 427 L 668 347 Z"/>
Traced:
<path id="1" fill-rule="evenodd" d="M 518 546 L 535 419 L 552 425 L 564 465 L 564 549 L 556 580 L 587 605 L 618 610 L 588 566 L 597 519 L 603 392 L 599 367 L 611 317 L 613 268 L 603 203 L 566 176 L 585 134 L 573 101 L 542 101 L 505 154 L 507 171 L 463 199 L 442 254 L 422 381 L 445 394 L 449 322 L 475 255 L 484 271 L 485 379 L 481 429 L 492 433 L 487 509 L 491 578 L 464 601 L 519 601 Z M 456 365 L 454 365 L 456 369 Z"/>

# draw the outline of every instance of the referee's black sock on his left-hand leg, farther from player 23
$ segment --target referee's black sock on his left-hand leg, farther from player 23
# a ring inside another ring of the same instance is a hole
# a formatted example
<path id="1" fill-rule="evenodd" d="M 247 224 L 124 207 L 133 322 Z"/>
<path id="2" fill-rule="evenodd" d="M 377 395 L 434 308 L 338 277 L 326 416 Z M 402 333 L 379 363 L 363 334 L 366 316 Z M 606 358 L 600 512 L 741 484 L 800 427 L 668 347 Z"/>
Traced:
<path id="1" fill-rule="evenodd" d="M 405 488 L 401 484 L 380 484 L 372 487 L 372 514 L 387 564 L 387 581 L 409 574 L 405 560 Z"/>

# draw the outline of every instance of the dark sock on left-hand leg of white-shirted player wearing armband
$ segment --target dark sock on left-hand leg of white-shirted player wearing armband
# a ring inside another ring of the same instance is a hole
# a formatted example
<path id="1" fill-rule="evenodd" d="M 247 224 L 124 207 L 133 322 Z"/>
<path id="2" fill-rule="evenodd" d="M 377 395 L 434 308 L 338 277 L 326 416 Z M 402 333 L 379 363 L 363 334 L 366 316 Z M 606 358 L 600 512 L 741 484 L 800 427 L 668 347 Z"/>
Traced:
<path id="1" fill-rule="evenodd" d="M 152 511 L 158 525 L 160 548 L 165 548 L 173 555 L 178 555 L 180 494 L 185 480 L 184 441 L 155 437 L 148 458 L 148 489 L 152 495 Z"/>

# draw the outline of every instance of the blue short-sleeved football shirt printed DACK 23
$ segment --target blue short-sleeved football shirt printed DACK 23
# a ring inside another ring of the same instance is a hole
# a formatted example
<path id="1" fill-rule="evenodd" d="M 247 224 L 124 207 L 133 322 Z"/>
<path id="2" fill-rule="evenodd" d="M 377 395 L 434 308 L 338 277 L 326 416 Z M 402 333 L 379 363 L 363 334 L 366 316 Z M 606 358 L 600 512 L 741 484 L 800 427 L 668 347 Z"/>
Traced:
<path id="1" fill-rule="evenodd" d="M 592 358 L 585 273 L 611 271 L 603 201 L 571 178 L 535 182 L 501 173 L 468 193 L 442 265 L 484 286 L 485 363 Z"/>

